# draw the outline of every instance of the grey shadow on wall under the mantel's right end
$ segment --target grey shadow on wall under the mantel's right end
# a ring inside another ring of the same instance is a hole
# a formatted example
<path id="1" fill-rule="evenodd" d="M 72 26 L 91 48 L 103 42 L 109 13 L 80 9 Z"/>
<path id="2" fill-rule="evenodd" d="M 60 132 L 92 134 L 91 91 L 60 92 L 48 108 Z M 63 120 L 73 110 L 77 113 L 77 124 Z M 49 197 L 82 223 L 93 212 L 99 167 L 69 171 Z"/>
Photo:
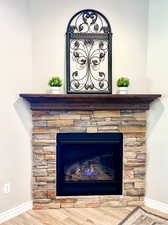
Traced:
<path id="1" fill-rule="evenodd" d="M 148 136 L 152 134 L 152 131 L 161 119 L 164 110 L 165 106 L 161 99 L 158 99 L 151 104 L 150 111 L 148 112 Z"/>

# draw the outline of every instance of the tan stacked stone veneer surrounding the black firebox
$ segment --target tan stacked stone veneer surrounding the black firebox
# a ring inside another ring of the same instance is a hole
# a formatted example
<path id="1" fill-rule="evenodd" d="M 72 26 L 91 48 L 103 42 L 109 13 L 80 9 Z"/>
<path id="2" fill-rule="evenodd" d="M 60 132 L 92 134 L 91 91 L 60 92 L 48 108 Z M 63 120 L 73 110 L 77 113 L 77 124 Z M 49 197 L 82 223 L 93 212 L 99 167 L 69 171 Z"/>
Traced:
<path id="1" fill-rule="evenodd" d="M 146 161 L 145 111 L 33 111 L 32 113 L 34 209 L 143 204 Z M 123 133 L 122 196 L 56 196 L 56 135 L 70 132 Z"/>

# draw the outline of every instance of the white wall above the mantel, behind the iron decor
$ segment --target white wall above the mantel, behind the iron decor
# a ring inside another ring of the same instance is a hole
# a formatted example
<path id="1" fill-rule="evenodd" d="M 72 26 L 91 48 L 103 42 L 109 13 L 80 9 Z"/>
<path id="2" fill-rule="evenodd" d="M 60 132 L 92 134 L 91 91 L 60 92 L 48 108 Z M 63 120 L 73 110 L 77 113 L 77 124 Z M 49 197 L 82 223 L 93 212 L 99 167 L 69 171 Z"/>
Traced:
<path id="1" fill-rule="evenodd" d="M 131 92 L 146 91 L 148 1 L 31 0 L 31 6 L 36 92 L 46 92 L 49 77 L 64 77 L 66 27 L 77 11 L 86 8 L 99 10 L 110 21 L 114 34 L 113 86 L 117 77 L 125 75 L 131 79 Z"/>

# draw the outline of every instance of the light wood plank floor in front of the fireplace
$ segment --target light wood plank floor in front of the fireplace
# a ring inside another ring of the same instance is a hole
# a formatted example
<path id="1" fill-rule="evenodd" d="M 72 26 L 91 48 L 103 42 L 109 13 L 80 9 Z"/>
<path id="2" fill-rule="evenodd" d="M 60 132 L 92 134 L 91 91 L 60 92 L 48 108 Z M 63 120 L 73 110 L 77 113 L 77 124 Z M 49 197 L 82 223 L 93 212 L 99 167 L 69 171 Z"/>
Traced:
<path id="1" fill-rule="evenodd" d="M 133 209 L 106 207 L 30 210 L 1 225 L 118 225 Z M 168 218 L 168 215 L 148 210 Z"/>

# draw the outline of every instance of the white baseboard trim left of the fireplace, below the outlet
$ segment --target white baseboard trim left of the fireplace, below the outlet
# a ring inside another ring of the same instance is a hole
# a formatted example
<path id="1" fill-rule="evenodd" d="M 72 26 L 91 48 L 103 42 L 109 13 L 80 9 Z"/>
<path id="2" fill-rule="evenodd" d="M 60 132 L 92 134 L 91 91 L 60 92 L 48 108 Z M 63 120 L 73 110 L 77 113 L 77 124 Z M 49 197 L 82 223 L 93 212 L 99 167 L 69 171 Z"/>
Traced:
<path id="1" fill-rule="evenodd" d="M 13 209 L 9 209 L 3 213 L 0 213 L 0 224 L 4 223 L 7 220 L 10 220 L 16 216 L 19 216 L 20 214 L 32 209 L 32 201 L 25 202 L 21 205 L 18 205 L 17 207 Z"/>

